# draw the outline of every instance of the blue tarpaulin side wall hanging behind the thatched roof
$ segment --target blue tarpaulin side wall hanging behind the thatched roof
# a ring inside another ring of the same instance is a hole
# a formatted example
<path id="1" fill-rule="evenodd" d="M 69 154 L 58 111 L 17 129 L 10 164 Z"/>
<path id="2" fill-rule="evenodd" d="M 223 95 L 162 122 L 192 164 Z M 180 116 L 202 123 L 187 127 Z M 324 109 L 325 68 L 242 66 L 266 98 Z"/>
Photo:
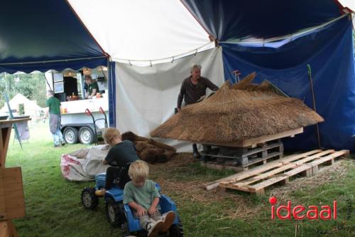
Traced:
<path id="1" fill-rule="evenodd" d="M 256 71 L 255 82 L 268 79 L 286 94 L 312 107 L 307 63 L 312 68 L 321 145 L 355 151 L 355 74 L 352 24 L 348 18 L 297 38 L 280 48 L 239 46 L 221 43 L 226 79 L 239 69 L 245 75 Z M 287 140 L 287 139 L 286 139 Z M 286 149 L 317 147 L 315 127 L 285 142 Z"/>

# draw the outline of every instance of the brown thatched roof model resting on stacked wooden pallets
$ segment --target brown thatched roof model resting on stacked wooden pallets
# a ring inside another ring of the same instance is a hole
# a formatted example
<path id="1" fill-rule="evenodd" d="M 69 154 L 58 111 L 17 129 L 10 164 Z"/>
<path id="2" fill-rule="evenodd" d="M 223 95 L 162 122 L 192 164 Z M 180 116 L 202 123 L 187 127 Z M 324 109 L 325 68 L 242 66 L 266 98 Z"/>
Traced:
<path id="1" fill-rule="evenodd" d="M 324 121 L 301 100 L 277 95 L 267 83 L 251 85 L 253 78 L 255 75 L 250 75 L 247 82 L 241 80 L 234 86 L 225 83 L 211 97 L 183 107 L 151 136 L 220 144 Z"/>

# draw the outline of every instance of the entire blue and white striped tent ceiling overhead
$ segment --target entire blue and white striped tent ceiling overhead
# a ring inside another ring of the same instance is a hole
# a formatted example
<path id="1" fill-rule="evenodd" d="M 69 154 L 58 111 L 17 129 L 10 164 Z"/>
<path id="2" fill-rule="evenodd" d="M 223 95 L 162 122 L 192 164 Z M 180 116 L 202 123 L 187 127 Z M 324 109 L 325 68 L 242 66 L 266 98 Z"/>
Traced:
<path id="1" fill-rule="evenodd" d="M 221 41 L 284 36 L 342 14 L 337 0 L 14 0 L 1 9 L 0 72 L 9 73 L 94 68 L 106 65 L 92 59 L 104 51 L 114 60 L 171 60 L 214 47 L 209 33 Z"/>

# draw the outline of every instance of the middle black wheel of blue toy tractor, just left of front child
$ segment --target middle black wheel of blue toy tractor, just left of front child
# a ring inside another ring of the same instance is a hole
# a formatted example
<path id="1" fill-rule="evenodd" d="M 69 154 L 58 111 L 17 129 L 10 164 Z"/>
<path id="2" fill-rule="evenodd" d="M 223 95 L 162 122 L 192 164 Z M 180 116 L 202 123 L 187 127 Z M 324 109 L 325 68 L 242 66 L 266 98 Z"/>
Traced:
<path id="1" fill-rule="evenodd" d="M 124 204 L 108 198 L 106 201 L 107 220 L 113 227 L 121 227 L 121 224 L 126 221 L 124 214 Z"/>

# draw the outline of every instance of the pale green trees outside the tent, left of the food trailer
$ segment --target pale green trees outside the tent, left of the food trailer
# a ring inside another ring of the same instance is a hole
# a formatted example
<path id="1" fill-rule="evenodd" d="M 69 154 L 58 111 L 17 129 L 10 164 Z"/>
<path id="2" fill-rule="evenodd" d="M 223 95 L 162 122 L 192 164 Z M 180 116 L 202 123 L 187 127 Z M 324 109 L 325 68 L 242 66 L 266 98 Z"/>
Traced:
<path id="1" fill-rule="evenodd" d="M 43 73 L 0 74 L 0 107 L 4 106 L 5 92 L 9 95 L 9 100 L 17 93 L 21 93 L 28 100 L 36 100 L 40 107 L 45 107 L 45 76 Z"/>

